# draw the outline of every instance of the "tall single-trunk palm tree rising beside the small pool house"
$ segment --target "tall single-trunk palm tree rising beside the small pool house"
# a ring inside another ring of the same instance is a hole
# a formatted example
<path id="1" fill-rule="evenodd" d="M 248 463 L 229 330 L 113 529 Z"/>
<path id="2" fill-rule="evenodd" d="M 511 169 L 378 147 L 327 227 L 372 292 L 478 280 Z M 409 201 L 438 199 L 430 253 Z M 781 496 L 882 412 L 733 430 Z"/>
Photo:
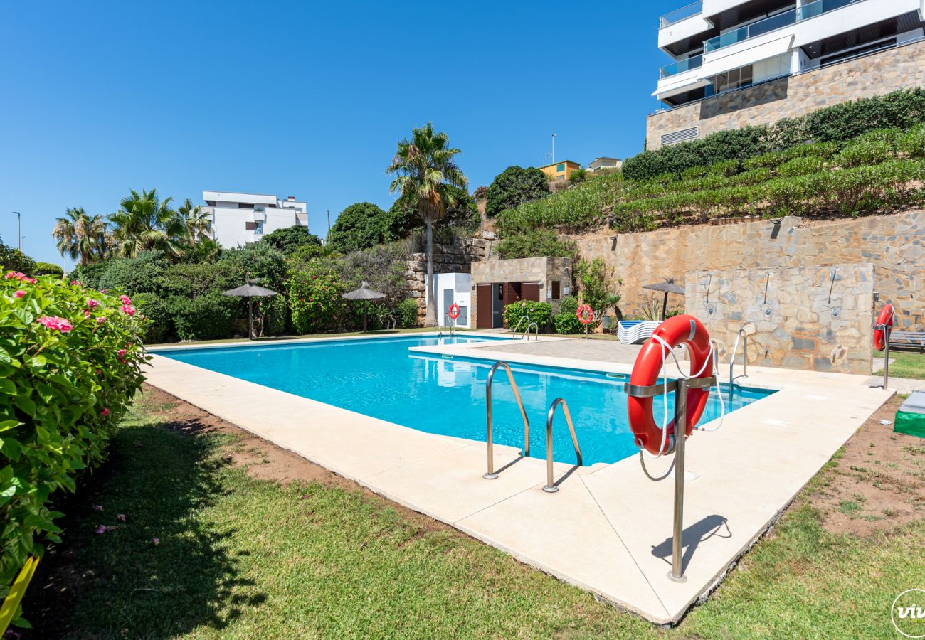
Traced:
<path id="1" fill-rule="evenodd" d="M 459 149 L 449 148 L 446 133 L 434 133 L 428 122 L 421 129 L 412 129 L 412 139 L 399 142 L 398 152 L 386 169 L 398 177 L 388 191 L 399 191 L 401 198 L 417 207 L 427 228 L 427 314 L 431 325 L 437 318 L 437 292 L 434 290 L 434 222 L 447 213 L 455 200 L 450 186 L 465 189 L 468 184 L 462 170 L 453 162 Z"/>

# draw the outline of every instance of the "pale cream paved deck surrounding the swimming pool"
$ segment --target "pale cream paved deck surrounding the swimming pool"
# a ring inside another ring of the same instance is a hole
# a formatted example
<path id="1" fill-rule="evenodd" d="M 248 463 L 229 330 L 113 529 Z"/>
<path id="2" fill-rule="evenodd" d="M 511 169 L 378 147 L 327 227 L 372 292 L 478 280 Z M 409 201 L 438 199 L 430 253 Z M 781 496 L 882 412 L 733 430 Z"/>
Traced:
<path id="1" fill-rule="evenodd" d="M 540 338 L 413 351 L 628 374 L 635 354 L 621 347 Z M 870 388 L 863 375 L 749 367 L 739 382 L 778 392 L 726 416 L 718 431 L 697 432 L 688 441 L 686 468 L 693 479 L 685 474 L 687 581 L 675 583 L 667 576 L 673 481 L 648 480 L 636 457 L 583 467 L 549 494 L 542 490 L 542 460 L 520 460 L 498 479 L 485 480 L 484 442 L 427 434 L 159 355 L 151 364 L 148 382 L 155 387 L 662 624 L 679 621 L 708 596 L 796 493 L 893 395 Z M 496 469 L 518 454 L 496 445 Z M 670 459 L 647 462 L 654 475 Z M 557 462 L 556 477 L 570 468 Z"/>

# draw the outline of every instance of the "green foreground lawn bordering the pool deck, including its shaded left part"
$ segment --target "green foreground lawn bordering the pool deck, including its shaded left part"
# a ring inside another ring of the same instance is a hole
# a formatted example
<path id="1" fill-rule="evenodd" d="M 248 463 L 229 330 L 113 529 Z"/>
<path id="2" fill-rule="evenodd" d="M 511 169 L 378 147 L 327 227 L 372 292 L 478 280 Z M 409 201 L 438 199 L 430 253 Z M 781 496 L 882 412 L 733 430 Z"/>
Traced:
<path id="1" fill-rule="evenodd" d="M 832 535 L 803 505 L 666 631 L 359 488 L 255 480 L 233 437 L 164 410 L 142 400 L 64 506 L 33 637 L 894 637 L 894 597 L 923 586 L 925 524 Z"/>

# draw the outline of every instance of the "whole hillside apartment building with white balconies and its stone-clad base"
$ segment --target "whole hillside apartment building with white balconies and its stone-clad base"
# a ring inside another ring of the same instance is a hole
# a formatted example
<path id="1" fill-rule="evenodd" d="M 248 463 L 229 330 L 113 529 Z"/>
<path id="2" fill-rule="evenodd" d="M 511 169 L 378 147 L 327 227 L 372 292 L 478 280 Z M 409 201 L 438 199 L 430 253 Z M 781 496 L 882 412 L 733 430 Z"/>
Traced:
<path id="1" fill-rule="evenodd" d="M 917 86 L 922 0 L 701 0 L 660 18 L 672 62 L 649 149 Z"/>

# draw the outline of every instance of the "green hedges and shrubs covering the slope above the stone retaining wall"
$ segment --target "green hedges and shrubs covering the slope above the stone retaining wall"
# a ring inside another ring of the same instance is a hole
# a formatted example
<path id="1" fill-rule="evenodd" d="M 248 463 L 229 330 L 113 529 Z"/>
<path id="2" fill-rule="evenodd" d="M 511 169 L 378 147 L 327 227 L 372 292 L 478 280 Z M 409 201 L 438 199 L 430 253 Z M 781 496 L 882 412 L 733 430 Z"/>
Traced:
<path id="1" fill-rule="evenodd" d="M 839 128 L 845 118 L 850 126 Z M 891 126 L 876 127 L 883 124 Z M 715 162 L 696 164 L 704 159 Z M 511 238 L 536 228 L 628 232 L 741 215 L 866 215 L 921 203 L 923 170 L 925 92 L 895 92 L 645 152 L 623 173 L 505 210 L 496 226 Z"/>

